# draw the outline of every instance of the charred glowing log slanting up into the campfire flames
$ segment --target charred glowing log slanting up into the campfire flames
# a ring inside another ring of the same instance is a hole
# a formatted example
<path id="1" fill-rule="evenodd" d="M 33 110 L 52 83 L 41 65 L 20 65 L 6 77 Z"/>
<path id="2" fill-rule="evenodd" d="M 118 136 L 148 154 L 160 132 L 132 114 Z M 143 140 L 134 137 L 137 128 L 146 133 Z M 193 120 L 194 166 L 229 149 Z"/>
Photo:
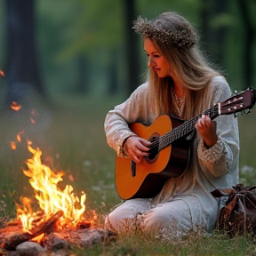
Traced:
<path id="1" fill-rule="evenodd" d="M 38 227 L 28 232 L 12 232 L 11 234 L 4 237 L 4 241 L 2 241 L 1 246 L 6 250 L 15 250 L 18 244 L 26 242 L 36 236 L 41 234 L 49 234 L 56 229 L 56 222 L 60 220 L 60 217 L 63 215 L 63 212 L 56 212 L 52 215 L 48 220 L 41 223 Z"/>

